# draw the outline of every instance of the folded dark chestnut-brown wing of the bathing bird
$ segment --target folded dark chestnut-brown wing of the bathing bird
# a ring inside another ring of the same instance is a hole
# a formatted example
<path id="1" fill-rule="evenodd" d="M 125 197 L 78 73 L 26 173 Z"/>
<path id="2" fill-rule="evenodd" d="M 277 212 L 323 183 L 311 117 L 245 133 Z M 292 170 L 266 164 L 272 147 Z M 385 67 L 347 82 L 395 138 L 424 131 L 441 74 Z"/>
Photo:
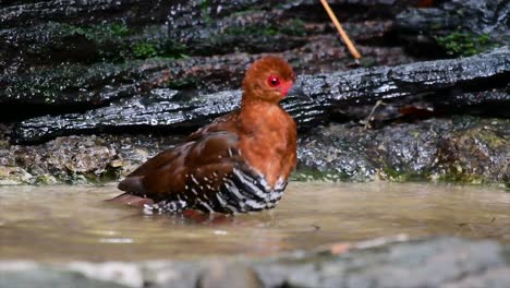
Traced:
<path id="1" fill-rule="evenodd" d="M 155 201 L 192 188 L 195 193 L 209 193 L 242 163 L 238 145 L 239 137 L 232 132 L 196 134 L 147 160 L 121 181 L 119 189 Z"/>

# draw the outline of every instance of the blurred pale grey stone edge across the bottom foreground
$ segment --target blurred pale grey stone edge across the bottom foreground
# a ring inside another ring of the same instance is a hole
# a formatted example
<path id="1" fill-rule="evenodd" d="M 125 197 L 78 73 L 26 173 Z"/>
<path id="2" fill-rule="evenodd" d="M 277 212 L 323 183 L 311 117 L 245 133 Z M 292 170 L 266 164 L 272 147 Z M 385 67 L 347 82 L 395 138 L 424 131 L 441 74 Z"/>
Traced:
<path id="1" fill-rule="evenodd" d="M 260 260 L 2 262 L 0 272 L 8 287 L 506 287 L 509 252 L 456 238 L 374 240 Z"/>

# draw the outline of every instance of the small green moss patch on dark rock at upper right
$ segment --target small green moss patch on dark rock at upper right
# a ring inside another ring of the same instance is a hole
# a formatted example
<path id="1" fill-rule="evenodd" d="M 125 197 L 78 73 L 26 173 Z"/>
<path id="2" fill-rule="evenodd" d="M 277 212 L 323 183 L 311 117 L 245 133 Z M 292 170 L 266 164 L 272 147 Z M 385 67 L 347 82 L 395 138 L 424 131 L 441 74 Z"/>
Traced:
<path id="1" fill-rule="evenodd" d="M 437 36 L 436 41 L 450 56 L 473 56 L 496 45 L 487 34 L 476 35 L 460 31 L 445 36 Z"/>

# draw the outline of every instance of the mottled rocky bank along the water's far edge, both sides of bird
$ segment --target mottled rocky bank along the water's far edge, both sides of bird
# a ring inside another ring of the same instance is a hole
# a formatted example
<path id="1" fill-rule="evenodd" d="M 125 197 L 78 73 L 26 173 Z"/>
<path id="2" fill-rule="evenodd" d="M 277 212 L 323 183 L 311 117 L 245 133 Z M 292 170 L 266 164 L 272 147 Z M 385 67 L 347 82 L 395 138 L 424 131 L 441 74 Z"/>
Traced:
<path id="1" fill-rule="evenodd" d="M 376 179 L 510 184 L 510 122 L 456 116 L 365 129 L 348 122 L 315 128 L 299 141 L 294 180 Z M 0 149 L 12 183 L 118 179 L 171 147 L 180 135 L 65 136 Z M 24 175 L 20 178 L 20 175 Z"/>

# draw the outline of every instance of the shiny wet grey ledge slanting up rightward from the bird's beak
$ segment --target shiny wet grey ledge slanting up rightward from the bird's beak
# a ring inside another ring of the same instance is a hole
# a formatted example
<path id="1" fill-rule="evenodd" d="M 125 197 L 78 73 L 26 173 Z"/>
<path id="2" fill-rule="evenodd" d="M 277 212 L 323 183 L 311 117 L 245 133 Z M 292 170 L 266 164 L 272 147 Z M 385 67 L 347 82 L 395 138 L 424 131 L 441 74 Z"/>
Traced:
<path id="1" fill-rule="evenodd" d="M 501 81 L 488 85 L 505 87 L 510 80 L 509 71 L 510 50 L 505 47 L 470 58 L 305 75 L 300 84 L 314 99 L 375 103 L 448 88 L 475 88 L 476 84 L 498 76 Z"/>

